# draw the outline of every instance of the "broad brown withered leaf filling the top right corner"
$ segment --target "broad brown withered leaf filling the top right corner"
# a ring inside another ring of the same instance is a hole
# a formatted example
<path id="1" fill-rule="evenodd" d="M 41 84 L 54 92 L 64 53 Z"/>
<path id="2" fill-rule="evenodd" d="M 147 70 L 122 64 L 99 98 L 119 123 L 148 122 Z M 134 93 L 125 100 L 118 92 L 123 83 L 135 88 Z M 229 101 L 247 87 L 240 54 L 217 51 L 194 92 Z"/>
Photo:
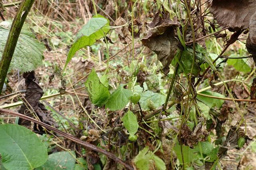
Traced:
<path id="1" fill-rule="evenodd" d="M 211 13 L 221 27 L 246 29 L 256 12 L 256 0 L 213 0 Z"/>

